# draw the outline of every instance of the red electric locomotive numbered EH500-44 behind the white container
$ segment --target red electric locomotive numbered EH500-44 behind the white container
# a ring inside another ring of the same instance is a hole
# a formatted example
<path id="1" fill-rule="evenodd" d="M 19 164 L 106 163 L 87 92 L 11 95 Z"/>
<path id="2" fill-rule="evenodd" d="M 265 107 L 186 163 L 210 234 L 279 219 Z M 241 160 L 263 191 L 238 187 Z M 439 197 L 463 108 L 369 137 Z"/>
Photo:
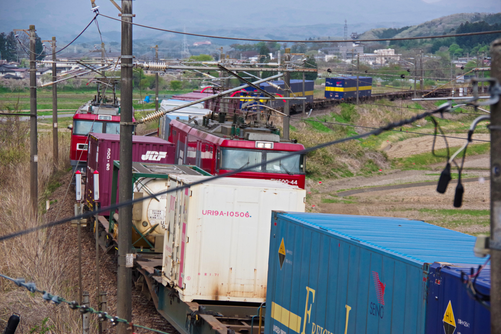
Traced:
<path id="1" fill-rule="evenodd" d="M 236 115 L 225 121 L 224 113 L 216 121 L 178 119 L 170 122 L 168 141 L 176 144 L 176 164 L 195 165 L 213 175 L 261 164 L 231 177 L 278 180 L 305 188 L 304 154 L 267 162 L 304 149 L 296 141 L 280 138 L 273 125 L 245 124 Z"/>

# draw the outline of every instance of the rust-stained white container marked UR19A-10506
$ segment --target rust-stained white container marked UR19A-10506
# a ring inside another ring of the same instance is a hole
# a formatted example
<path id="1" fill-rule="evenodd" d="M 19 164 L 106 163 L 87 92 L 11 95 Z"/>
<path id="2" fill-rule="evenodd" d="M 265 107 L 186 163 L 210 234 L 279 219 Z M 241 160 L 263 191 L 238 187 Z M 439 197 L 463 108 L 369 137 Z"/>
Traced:
<path id="1" fill-rule="evenodd" d="M 170 175 L 168 187 L 206 178 Z M 167 196 L 163 284 L 184 302 L 265 301 L 272 210 L 304 212 L 306 191 L 226 177 Z"/>

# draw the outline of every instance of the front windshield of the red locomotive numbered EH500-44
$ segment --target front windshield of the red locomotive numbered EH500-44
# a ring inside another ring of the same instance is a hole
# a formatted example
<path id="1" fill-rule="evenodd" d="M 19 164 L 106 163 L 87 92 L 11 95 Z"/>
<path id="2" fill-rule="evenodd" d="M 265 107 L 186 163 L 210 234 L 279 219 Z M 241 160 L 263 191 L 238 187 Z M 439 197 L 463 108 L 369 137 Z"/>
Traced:
<path id="1" fill-rule="evenodd" d="M 291 152 L 222 149 L 221 169 L 240 169 L 261 163 L 261 166 L 253 168 L 252 170 L 289 175 L 303 174 L 305 172 L 304 155 L 294 155 L 270 163 L 267 162 L 290 153 Z"/>

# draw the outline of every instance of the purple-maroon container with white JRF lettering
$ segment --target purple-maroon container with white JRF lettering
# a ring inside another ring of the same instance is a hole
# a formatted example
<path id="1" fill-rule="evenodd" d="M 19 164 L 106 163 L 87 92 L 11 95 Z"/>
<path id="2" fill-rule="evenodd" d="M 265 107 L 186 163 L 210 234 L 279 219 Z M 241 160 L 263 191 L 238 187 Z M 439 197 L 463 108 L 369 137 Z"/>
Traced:
<path id="1" fill-rule="evenodd" d="M 166 140 L 132 136 L 133 162 L 173 164 L 174 156 L 175 146 Z M 90 210 L 94 207 L 94 171 L 99 172 L 99 206 L 101 208 L 110 206 L 113 160 L 120 160 L 120 135 L 92 133 L 89 139 L 85 181 L 85 204 Z M 109 211 L 102 212 L 101 215 L 108 216 Z"/>

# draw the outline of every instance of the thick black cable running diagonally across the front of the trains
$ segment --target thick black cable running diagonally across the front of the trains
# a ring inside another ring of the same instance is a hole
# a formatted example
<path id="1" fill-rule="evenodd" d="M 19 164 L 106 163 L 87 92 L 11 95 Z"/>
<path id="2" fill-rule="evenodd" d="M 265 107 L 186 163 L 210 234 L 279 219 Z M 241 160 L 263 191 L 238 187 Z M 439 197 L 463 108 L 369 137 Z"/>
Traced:
<path id="1" fill-rule="evenodd" d="M 418 114 L 418 115 L 415 115 L 415 116 L 413 116 L 413 117 L 411 117 L 409 119 L 402 120 L 402 121 L 399 121 L 399 122 L 388 123 L 387 125 L 385 125 L 383 127 L 380 127 L 380 128 L 377 128 L 377 129 L 375 129 L 373 131 L 370 131 L 370 132 L 366 132 L 366 133 L 363 133 L 363 134 L 360 134 L 360 135 L 356 135 L 356 136 L 351 136 L 351 137 L 345 137 L 345 138 L 341 138 L 341 139 L 336 139 L 336 140 L 333 140 L 333 141 L 330 141 L 330 142 L 322 143 L 322 144 L 319 144 L 319 145 L 316 145 L 316 146 L 313 146 L 313 147 L 301 150 L 301 151 L 291 152 L 291 153 L 285 154 L 285 155 L 283 155 L 281 157 L 277 157 L 275 159 L 268 160 L 268 162 L 271 163 L 271 162 L 279 161 L 281 159 L 286 159 L 288 157 L 292 157 L 292 156 L 295 156 L 295 155 L 306 154 L 306 153 L 309 153 L 309 152 L 312 152 L 312 151 L 315 151 L 315 150 L 318 150 L 318 149 L 321 149 L 321 148 L 324 148 L 324 147 L 328 147 L 328 146 L 339 144 L 339 143 L 344 143 L 344 142 L 347 142 L 347 141 L 350 141 L 350 140 L 360 139 L 360 138 L 368 137 L 368 136 L 371 136 L 371 135 L 377 136 L 377 135 L 381 134 L 384 131 L 388 131 L 388 130 L 391 130 L 391 129 L 396 128 L 396 127 L 404 126 L 406 124 L 414 123 L 414 122 L 416 122 L 416 121 L 418 121 L 420 119 L 423 119 L 423 118 L 428 117 L 428 116 L 432 116 L 432 115 L 434 115 L 436 113 L 442 114 L 444 112 L 449 112 L 450 109 L 451 109 L 451 106 L 449 104 L 444 104 L 444 105 L 440 106 L 436 110 L 425 112 L 425 113 L 422 113 L 422 114 Z M 84 214 L 77 215 L 77 216 L 74 216 L 74 217 L 64 218 L 64 219 L 61 219 L 61 220 L 58 220 L 58 221 L 53 221 L 53 222 L 49 222 L 47 224 L 39 225 L 37 227 L 32 227 L 32 228 L 25 229 L 25 230 L 22 230 L 22 231 L 18 231 L 18 232 L 14 232 L 14 233 L 11 233 L 11 234 L 3 235 L 3 236 L 0 237 L 0 241 L 8 240 L 8 239 L 11 239 L 11 238 L 14 238 L 14 237 L 17 237 L 17 236 L 21 236 L 21 235 L 24 235 L 24 234 L 28 234 L 28 233 L 40 230 L 40 229 L 44 229 L 44 228 L 47 228 L 47 227 L 61 225 L 61 224 L 65 223 L 65 222 L 67 222 L 67 221 L 71 221 L 72 219 L 83 219 L 83 218 L 91 217 L 91 216 L 96 215 L 97 213 L 108 211 L 108 210 L 110 212 L 112 212 L 112 211 L 114 211 L 114 210 L 116 210 L 116 209 L 118 209 L 120 207 L 123 207 L 123 206 L 132 205 L 132 204 L 134 204 L 136 202 L 142 202 L 143 200 L 146 200 L 146 199 L 155 198 L 158 195 L 168 194 L 168 193 L 171 193 L 171 192 L 174 192 L 174 191 L 178 191 L 179 189 L 188 188 L 188 187 L 200 184 L 200 183 L 207 183 L 207 182 L 211 182 L 211 181 L 214 181 L 214 180 L 222 178 L 222 177 L 228 177 L 228 176 L 231 176 L 231 175 L 234 175 L 234 174 L 237 174 L 237 173 L 241 173 L 241 172 L 244 172 L 244 171 L 247 171 L 247 170 L 252 170 L 252 169 L 260 167 L 261 165 L 262 165 L 261 163 L 258 163 L 258 164 L 252 165 L 252 166 L 247 166 L 247 167 L 244 167 L 244 168 L 233 170 L 233 171 L 230 171 L 230 172 L 227 172 L 227 173 L 224 173 L 224 174 L 219 174 L 219 175 L 216 175 L 216 176 L 208 177 L 206 179 L 193 182 L 193 183 L 191 183 L 189 185 L 179 186 L 179 187 L 172 188 L 172 189 L 165 190 L 165 191 L 161 191 L 159 193 L 156 193 L 156 194 L 153 194 L 153 195 L 149 195 L 149 196 L 146 196 L 146 197 L 124 201 L 124 202 L 121 202 L 121 203 L 110 205 L 109 207 L 100 208 L 100 209 L 97 209 L 97 210 L 94 210 L 94 211 L 88 211 L 88 212 L 86 212 Z"/>

